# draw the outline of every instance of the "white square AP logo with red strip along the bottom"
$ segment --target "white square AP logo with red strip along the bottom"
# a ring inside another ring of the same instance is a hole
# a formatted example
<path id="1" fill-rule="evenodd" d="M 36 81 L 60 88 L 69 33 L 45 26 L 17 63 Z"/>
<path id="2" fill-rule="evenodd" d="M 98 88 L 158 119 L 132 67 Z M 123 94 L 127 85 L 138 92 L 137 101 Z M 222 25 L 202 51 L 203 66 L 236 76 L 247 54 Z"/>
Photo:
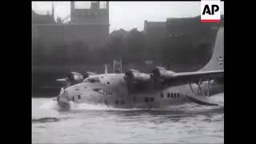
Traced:
<path id="1" fill-rule="evenodd" d="M 221 22 L 221 1 L 201 1 L 201 22 Z"/>

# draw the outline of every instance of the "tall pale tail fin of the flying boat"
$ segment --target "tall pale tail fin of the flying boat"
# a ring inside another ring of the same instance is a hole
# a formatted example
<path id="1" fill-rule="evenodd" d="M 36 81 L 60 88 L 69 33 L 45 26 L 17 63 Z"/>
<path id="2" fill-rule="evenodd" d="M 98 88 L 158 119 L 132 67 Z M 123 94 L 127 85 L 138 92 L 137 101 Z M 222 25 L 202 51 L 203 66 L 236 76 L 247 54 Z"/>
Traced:
<path id="1" fill-rule="evenodd" d="M 224 70 L 224 28 L 219 28 L 210 61 L 199 71 Z"/>

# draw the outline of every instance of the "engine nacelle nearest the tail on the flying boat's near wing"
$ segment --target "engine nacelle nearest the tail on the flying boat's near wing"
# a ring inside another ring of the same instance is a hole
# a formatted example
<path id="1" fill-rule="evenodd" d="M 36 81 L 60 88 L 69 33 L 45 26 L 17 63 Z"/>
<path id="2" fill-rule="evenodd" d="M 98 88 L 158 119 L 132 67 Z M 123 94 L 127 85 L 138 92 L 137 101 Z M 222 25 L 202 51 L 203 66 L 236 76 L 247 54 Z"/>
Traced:
<path id="1" fill-rule="evenodd" d="M 174 72 L 171 70 L 166 70 L 164 67 L 156 67 L 152 71 L 154 78 L 159 78 L 159 79 L 167 79 L 167 78 L 172 78 Z"/>

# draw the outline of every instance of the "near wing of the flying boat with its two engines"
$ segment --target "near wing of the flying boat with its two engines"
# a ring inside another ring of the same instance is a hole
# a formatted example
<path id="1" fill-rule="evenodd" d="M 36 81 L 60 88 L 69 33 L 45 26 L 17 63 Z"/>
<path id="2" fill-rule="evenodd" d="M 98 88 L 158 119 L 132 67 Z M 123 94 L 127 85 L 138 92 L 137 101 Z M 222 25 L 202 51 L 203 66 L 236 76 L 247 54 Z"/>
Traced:
<path id="1" fill-rule="evenodd" d="M 209 80 L 222 80 L 222 78 L 224 78 L 224 70 L 175 73 L 159 66 L 151 74 L 140 73 L 138 70 L 129 70 L 125 74 L 126 82 L 130 84 L 147 85 L 153 82 L 154 86 L 158 86 L 158 84 L 179 86 Z"/>

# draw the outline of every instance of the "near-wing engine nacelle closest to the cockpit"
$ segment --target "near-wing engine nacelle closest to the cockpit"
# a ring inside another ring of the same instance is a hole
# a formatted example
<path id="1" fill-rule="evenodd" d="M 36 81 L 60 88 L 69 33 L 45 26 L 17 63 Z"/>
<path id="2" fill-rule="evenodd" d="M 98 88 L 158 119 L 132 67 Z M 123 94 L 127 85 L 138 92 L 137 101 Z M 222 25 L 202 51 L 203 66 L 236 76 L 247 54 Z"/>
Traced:
<path id="1" fill-rule="evenodd" d="M 126 72 L 126 81 L 132 83 L 150 82 L 150 74 L 140 73 L 138 70 L 128 70 Z"/>

